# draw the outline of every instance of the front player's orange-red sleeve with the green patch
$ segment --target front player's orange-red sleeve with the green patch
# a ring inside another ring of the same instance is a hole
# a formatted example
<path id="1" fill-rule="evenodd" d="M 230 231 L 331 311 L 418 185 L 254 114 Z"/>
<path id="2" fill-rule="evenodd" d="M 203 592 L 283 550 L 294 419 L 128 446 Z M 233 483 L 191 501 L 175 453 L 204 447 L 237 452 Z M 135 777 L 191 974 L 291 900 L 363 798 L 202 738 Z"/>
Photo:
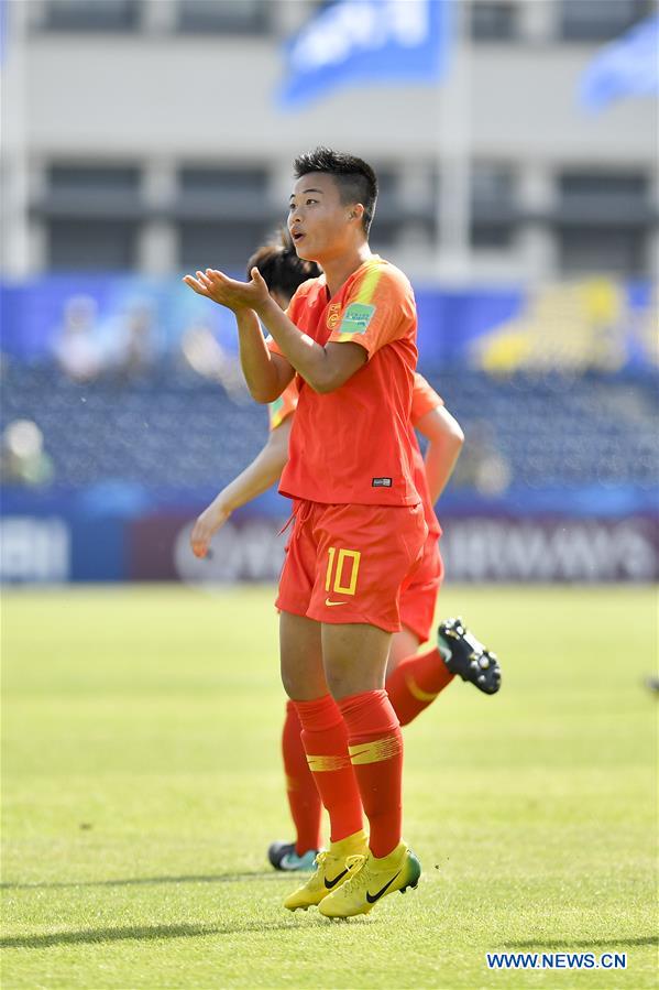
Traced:
<path id="1" fill-rule="evenodd" d="M 328 344 L 359 344 L 369 358 L 414 334 L 416 305 L 409 282 L 393 265 L 374 264 L 351 286 Z"/>

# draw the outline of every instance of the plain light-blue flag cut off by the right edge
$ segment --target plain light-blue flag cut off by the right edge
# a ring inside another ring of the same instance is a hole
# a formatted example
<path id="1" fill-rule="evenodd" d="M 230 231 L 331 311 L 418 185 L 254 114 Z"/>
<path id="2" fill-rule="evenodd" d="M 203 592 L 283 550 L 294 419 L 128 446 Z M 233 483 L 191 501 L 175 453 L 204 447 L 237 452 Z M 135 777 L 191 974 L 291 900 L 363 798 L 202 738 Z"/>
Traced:
<path id="1" fill-rule="evenodd" d="M 659 93 L 659 14 L 606 45 L 581 78 L 580 99 L 601 110 L 624 96 Z"/>

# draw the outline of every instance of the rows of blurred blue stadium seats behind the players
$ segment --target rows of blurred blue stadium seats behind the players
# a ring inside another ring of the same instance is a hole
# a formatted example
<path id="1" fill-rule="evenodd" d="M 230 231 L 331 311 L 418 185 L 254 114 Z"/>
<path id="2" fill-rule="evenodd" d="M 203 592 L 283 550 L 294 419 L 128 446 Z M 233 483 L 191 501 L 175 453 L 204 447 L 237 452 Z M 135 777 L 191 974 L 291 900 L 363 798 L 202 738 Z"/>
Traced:
<path id="1" fill-rule="evenodd" d="M 468 440 L 506 465 L 506 487 L 649 490 L 656 481 L 659 396 L 649 374 L 495 378 L 422 370 Z M 136 382 L 80 384 L 52 365 L 8 360 L 2 414 L 3 426 L 18 418 L 37 424 L 55 481 L 72 487 L 106 479 L 190 491 L 220 487 L 266 435 L 263 407 L 237 404 L 217 383 L 167 362 Z M 457 487 L 470 483 L 468 472 L 458 472 Z"/>

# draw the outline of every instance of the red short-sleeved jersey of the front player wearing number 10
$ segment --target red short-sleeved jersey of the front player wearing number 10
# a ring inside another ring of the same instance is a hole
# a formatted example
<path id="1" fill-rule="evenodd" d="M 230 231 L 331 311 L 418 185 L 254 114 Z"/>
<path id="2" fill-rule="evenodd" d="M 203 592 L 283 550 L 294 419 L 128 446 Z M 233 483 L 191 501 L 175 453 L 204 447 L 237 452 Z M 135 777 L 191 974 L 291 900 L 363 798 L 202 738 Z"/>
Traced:
<path id="1" fill-rule="evenodd" d="M 409 437 L 417 319 L 403 272 L 374 255 L 331 298 L 325 275 L 305 282 L 287 313 L 322 347 L 359 344 L 369 358 L 323 395 L 296 376 L 298 405 L 282 494 L 327 504 L 417 504 Z M 282 353 L 272 338 L 268 347 Z"/>

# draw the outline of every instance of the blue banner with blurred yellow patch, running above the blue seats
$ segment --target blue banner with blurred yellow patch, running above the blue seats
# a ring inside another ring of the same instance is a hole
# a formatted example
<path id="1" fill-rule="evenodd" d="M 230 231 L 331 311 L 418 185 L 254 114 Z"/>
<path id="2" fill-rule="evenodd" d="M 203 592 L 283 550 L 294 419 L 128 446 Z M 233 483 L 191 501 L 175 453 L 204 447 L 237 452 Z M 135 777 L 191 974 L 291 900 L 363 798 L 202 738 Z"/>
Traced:
<path id="1" fill-rule="evenodd" d="M 237 361 L 232 314 L 178 279 L 46 275 L 0 289 L 0 347 L 19 361 L 55 359 L 72 320 L 79 334 L 83 317 L 85 336 L 106 365 L 111 366 L 113 348 L 135 320 L 156 362 L 184 355 L 194 361 L 195 348 L 206 369 L 221 356 Z M 417 284 L 415 294 L 421 368 L 615 372 L 657 367 L 657 302 L 647 281 L 592 276 L 534 291 Z"/>

